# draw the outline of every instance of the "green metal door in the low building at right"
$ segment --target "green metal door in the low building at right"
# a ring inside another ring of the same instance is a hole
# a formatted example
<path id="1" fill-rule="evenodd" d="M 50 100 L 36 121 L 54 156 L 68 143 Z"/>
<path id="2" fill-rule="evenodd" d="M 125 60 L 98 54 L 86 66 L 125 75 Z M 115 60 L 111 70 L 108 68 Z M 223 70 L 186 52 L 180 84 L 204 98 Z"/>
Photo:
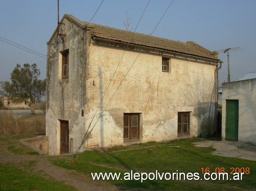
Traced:
<path id="1" fill-rule="evenodd" d="M 225 139 L 238 141 L 238 100 L 226 100 Z"/>

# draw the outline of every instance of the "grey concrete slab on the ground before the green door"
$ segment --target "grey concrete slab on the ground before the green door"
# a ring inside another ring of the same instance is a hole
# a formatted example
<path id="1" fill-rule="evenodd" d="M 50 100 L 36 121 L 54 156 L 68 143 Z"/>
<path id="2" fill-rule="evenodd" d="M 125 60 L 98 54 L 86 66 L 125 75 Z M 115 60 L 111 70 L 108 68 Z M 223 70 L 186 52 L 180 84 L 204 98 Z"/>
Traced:
<path id="1" fill-rule="evenodd" d="M 237 141 L 199 141 L 193 144 L 200 147 L 212 146 L 216 149 L 212 152 L 213 155 L 256 161 L 256 146 L 254 145 Z"/>

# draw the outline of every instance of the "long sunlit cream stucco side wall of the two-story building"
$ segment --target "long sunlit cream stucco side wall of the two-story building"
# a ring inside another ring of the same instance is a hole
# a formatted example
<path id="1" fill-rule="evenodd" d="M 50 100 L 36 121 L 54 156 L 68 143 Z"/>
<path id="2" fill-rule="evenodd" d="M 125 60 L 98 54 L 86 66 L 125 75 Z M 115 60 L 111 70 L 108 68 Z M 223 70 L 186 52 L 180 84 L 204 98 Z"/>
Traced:
<path id="1" fill-rule="evenodd" d="M 124 48 L 90 45 L 86 69 L 86 127 L 98 106 L 97 117 L 106 109 L 87 147 L 122 144 L 124 113 L 141 113 L 141 142 L 177 139 L 178 112 L 190 112 L 190 136 L 198 136 L 200 130 L 211 130 L 215 125 L 215 65 L 169 56 L 169 72 L 165 73 L 162 72 L 162 55 L 142 52 L 138 56 L 139 51 L 134 50 L 127 50 L 124 56 L 123 53 Z"/>

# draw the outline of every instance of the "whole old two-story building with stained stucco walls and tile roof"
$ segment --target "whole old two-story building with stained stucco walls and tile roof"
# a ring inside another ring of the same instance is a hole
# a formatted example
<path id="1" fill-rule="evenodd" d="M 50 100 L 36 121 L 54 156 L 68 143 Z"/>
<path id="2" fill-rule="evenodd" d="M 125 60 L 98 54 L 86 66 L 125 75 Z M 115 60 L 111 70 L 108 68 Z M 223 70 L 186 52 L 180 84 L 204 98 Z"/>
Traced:
<path id="1" fill-rule="evenodd" d="M 65 14 L 47 42 L 50 155 L 216 131 L 222 62 L 194 42 L 82 22 Z"/>

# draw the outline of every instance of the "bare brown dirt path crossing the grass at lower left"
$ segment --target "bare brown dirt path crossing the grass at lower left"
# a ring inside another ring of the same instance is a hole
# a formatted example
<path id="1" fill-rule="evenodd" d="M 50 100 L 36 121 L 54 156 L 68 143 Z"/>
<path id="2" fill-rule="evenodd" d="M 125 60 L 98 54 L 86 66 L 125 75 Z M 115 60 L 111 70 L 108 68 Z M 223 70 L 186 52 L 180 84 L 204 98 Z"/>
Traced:
<path id="1" fill-rule="evenodd" d="M 0 145 L 0 163 L 7 162 L 29 162 L 35 161 L 34 173 L 44 178 L 54 178 L 57 181 L 63 181 L 66 185 L 73 186 L 78 190 L 118 190 L 117 187 L 108 182 L 93 181 L 89 175 L 82 174 L 75 170 L 69 170 L 54 166 L 49 162 L 49 155 L 14 155 L 7 150 L 9 145 Z M 59 157 L 59 156 L 57 156 Z M 45 177 L 45 174 L 47 176 Z"/>

